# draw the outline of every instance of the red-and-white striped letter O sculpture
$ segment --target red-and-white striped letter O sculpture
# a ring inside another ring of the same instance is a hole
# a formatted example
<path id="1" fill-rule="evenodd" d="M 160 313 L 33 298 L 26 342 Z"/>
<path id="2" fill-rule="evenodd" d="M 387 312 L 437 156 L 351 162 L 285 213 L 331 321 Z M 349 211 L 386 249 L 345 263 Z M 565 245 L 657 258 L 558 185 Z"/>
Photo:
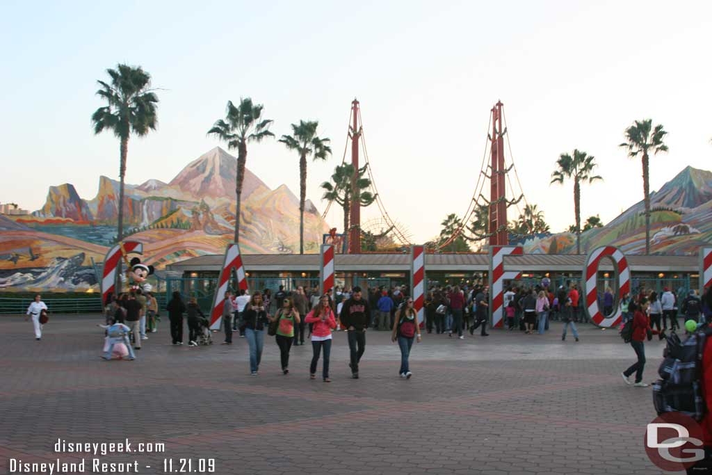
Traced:
<path id="1" fill-rule="evenodd" d="M 607 257 L 613 262 L 613 280 L 617 282 L 618 298 L 613 305 L 611 315 L 603 315 L 598 305 L 597 275 L 601 259 Z M 586 259 L 582 276 L 584 278 L 585 306 L 588 316 L 595 325 L 609 328 L 621 323 L 622 311 L 618 303 L 630 292 L 630 270 L 623 252 L 615 246 L 602 246 L 591 251 Z"/>

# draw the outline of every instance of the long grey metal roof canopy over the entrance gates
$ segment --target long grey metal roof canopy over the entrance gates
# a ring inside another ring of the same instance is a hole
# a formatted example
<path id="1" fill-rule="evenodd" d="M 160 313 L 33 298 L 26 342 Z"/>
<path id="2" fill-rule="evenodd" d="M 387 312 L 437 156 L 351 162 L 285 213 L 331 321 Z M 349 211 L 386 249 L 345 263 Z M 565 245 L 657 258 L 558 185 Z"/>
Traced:
<path id="1" fill-rule="evenodd" d="M 580 273 L 586 261 L 584 255 L 524 254 L 505 256 L 506 271 L 545 271 Z M 628 264 L 634 272 L 697 272 L 698 256 L 644 256 L 629 254 Z M 167 266 L 168 271 L 220 271 L 223 254 L 194 257 Z M 246 271 L 254 272 L 318 272 L 319 254 L 243 254 Z M 336 254 L 338 272 L 410 271 L 408 254 Z M 426 254 L 425 270 L 487 272 L 489 254 Z M 601 271 L 612 271 L 609 259 L 603 259 Z"/>

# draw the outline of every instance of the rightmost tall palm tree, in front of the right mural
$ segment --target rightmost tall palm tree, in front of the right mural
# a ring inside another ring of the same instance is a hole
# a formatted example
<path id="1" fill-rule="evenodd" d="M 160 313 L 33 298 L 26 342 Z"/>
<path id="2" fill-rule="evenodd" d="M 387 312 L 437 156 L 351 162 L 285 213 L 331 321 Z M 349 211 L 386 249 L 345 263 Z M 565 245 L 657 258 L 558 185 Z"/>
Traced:
<path id="1" fill-rule="evenodd" d="M 650 254 L 650 180 L 649 180 L 649 152 L 657 155 L 658 152 L 667 152 L 668 147 L 663 143 L 667 134 L 663 126 L 652 125 L 651 119 L 636 120 L 633 125 L 625 130 L 626 141 L 619 145 L 628 149 L 628 156 L 635 158 L 642 155 L 643 165 L 643 201 L 645 203 L 645 254 Z"/>

